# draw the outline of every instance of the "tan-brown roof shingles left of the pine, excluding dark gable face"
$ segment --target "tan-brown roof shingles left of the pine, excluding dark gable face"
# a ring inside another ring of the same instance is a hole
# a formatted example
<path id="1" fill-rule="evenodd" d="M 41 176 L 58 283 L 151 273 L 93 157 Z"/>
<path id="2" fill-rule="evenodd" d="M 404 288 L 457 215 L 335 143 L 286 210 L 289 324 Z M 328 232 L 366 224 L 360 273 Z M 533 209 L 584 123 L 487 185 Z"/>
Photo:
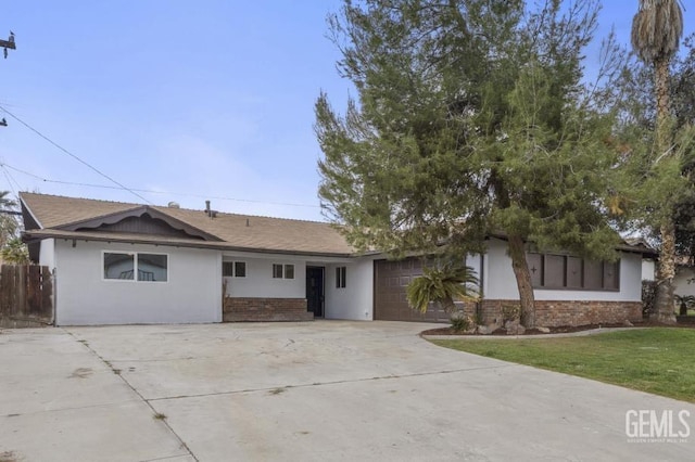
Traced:
<path id="1" fill-rule="evenodd" d="M 42 231 L 34 233 L 37 236 L 51 234 L 49 230 L 52 230 L 52 234 L 55 236 L 59 234 L 66 236 L 64 227 L 67 224 L 142 207 L 139 204 L 35 193 L 21 193 L 20 197 L 41 224 Z M 351 255 L 354 253 L 352 246 L 329 223 L 224 213 L 217 213 L 215 218 L 210 218 L 204 210 L 161 206 L 152 206 L 151 208 L 219 238 L 222 242 L 214 243 L 215 248 L 320 255 Z M 58 231 L 61 232 L 58 233 Z M 86 235 L 83 231 L 77 233 Z M 89 234 L 96 234 L 96 232 L 89 232 Z M 114 240 L 135 238 L 123 233 L 109 235 Z M 143 235 L 139 238 L 143 238 Z M 162 236 L 148 236 L 148 240 L 162 243 L 172 241 L 170 238 L 164 239 Z M 200 244 L 201 247 L 212 245 L 212 243 L 203 242 Z"/>

